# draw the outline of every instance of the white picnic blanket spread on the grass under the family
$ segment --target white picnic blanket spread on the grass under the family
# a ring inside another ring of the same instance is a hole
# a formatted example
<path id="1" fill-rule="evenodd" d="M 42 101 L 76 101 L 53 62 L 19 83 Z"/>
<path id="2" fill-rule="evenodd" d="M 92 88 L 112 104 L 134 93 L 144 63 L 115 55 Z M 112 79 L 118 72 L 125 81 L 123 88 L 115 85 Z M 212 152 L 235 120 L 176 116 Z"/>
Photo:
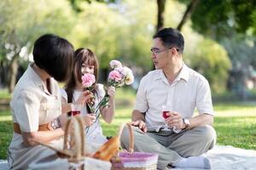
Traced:
<path id="1" fill-rule="evenodd" d="M 206 156 L 212 162 L 213 170 L 253 170 L 256 166 L 256 150 L 243 150 L 230 145 L 216 145 L 212 150 L 207 152 Z M 0 160 L 0 170 L 6 169 L 8 169 L 7 161 Z M 181 170 L 180 168 L 172 169 Z M 185 168 L 183 170 L 195 170 L 195 168 Z"/>

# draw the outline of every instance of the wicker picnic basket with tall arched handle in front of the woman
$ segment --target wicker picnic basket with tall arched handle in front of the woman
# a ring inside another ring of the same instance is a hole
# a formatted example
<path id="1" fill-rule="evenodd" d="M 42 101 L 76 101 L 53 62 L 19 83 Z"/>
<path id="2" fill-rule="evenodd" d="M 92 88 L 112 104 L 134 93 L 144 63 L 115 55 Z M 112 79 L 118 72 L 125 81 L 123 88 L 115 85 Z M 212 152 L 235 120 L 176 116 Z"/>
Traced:
<path id="1" fill-rule="evenodd" d="M 43 144 L 55 150 L 61 159 L 67 159 L 68 169 L 104 169 L 109 170 L 111 163 L 92 157 L 92 154 L 85 152 L 84 121 L 81 116 L 71 116 L 66 123 L 64 133 L 64 146 L 62 150 Z"/>

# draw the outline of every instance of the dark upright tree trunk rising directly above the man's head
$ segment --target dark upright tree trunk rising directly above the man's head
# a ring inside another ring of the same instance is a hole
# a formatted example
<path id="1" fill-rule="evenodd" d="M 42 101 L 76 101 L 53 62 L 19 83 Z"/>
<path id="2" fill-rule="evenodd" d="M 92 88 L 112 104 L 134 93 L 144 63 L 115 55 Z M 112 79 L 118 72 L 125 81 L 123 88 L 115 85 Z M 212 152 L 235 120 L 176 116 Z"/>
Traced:
<path id="1" fill-rule="evenodd" d="M 157 0 L 157 26 L 156 31 L 164 27 L 166 0 Z"/>

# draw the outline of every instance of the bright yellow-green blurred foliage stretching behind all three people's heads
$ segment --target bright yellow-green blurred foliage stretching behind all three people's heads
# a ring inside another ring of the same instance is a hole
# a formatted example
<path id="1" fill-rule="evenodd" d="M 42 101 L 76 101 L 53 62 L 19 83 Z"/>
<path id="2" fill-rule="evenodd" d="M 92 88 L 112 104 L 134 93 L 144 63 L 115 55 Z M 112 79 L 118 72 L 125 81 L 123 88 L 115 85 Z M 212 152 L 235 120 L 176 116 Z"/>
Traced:
<path id="1" fill-rule="evenodd" d="M 179 2 L 188 3 L 185 0 L 166 2 L 165 26 L 176 27 L 182 19 L 186 6 Z M 73 5 L 79 7 L 79 11 Z M 152 69 L 149 49 L 156 15 L 156 2 L 149 0 L 2 0 L 0 66 L 19 55 L 19 65 L 26 68 L 32 56 L 32 43 L 50 32 L 66 37 L 74 48 L 91 48 L 101 69 L 108 70 L 108 62 L 119 59 L 133 69 L 136 77 L 142 77 Z M 182 31 L 184 60 L 207 77 L 214 91 L 222 91 L 230 68 L 224 48 L 193 31 L 191 24 L 188 21 Z M 218 83 L 221 88 L 217 88 Z"/>

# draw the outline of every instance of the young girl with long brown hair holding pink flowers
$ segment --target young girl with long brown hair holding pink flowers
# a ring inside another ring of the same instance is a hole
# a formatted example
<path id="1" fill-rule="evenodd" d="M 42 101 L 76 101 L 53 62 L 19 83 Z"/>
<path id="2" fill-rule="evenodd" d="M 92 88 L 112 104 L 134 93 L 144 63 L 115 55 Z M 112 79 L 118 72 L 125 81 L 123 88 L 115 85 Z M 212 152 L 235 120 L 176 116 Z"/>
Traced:
<path id="1" fill-rule="evenodd" d="M 84 87 L 81 77 L 84 73 L 93 74 L 96 77 L 96 82 L 92 85 L 92 93 L 95 96 L 94 106 L 103 99 L 105 90 L 102 84 L 97 83 L 98 79 L 98 61 L 96 55 L 89 48 L 79 48 L 75 51 L 73 73 L 67 82 L 66 86 L 61 89 L 62 96 L 62 112 L 71 111 L 71 106 L 76 103 L 81 103 L 79 100 L 84 96 Z M 90 107 L 84 105 L 82 115 L 87 116 L 87 126 L 85 128 L 86 141 L 89 143 L 103 144 L 107 141 L 102 134 L 102 127 L 99 121 L 99 115 L 105 122 L 112 122 L 114 115 L 114 94 L 115 88 L 108 88 L 109 102 L 107 107 L 100 108 L 95 115 L 91 114 Z M 96 119 L 96 120 L 95 120 Z"/>

